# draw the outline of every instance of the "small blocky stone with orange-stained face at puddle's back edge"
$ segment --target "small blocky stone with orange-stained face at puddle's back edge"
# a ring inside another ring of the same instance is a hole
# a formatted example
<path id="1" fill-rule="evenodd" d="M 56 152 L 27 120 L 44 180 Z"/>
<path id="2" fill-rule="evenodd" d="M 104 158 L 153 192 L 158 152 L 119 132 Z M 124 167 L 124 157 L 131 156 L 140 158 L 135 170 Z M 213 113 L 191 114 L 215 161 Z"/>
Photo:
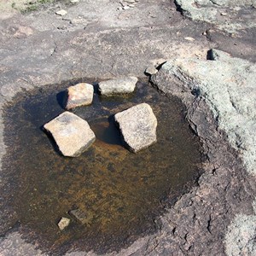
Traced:
<path id="1" fill-rule="evenodd" d="M 67 110 L 90 105 L 93 99 L 93 86 L 80 83 L 67 88 Z"/>

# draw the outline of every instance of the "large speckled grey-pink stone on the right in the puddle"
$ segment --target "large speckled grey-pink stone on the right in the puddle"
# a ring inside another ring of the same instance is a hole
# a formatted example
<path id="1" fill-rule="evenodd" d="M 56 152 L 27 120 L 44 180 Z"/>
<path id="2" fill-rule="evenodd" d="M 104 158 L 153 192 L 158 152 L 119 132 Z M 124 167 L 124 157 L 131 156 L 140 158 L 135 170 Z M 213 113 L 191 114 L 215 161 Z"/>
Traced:
<path id="1" fill-rule="evenodd" d="M 127 148 L 132 152 L 148 148 L 156 142 L 157 119 L 147 103 L 116 113 L 114 119 L 119 124 Z"/>

